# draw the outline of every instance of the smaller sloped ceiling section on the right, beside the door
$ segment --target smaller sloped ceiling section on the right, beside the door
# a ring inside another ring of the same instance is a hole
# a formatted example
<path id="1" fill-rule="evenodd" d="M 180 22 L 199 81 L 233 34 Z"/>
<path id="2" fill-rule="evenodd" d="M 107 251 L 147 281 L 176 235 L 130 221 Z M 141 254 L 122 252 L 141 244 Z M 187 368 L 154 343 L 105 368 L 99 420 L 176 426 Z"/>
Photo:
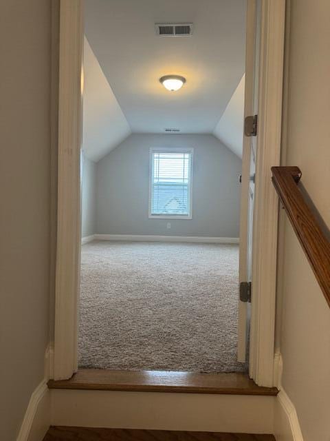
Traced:
<path id="1" fill-rule="evenodd" d="M 214 136 L 240 158 L 243 153 L 244 85 L 245 75 L 242 76 L 213 132 Z"/>

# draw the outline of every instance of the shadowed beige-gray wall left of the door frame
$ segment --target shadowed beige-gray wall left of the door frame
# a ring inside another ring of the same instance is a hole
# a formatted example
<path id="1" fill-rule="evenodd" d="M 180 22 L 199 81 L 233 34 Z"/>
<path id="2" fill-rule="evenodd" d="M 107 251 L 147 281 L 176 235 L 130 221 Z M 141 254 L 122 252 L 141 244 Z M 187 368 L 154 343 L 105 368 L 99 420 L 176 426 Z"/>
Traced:
<path id="1" fill-rule="evenodd" d="M 1 1 L 0 439 L 44 376 L 50 293 L 50 0 Z"/>

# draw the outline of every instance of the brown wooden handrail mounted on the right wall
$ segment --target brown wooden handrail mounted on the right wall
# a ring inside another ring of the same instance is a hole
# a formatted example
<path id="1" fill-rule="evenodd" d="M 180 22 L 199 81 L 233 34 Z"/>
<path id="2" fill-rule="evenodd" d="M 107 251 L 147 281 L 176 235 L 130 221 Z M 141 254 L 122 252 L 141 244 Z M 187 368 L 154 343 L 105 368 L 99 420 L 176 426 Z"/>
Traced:
<path id="1" fill-rule="evenodd" d="M 298 167 L 272 167 L 272 182 L 330 307 L 330 241 L 298 183 Z"/>

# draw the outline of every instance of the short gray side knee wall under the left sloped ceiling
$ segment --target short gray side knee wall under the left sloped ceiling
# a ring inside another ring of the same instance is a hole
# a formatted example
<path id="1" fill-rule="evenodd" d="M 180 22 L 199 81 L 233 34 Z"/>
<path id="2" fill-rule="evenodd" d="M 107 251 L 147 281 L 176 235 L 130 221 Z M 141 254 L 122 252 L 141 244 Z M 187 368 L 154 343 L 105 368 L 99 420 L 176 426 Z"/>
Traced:
<path id="1" fill-rule="evenodd" d="M 83 188 L 81 205 L 82 237 L 96 232 L 96 163 L 83 156 Z"/>

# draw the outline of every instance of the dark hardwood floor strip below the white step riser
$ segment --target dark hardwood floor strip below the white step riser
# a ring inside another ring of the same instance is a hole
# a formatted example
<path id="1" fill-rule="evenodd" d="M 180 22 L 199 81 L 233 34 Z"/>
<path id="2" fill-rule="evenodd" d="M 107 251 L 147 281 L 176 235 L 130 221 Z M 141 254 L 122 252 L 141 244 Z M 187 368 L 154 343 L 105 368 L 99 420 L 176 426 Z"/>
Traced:
<path id="1" fill-rule="evenodd" d="M 50 427 L 43 441 L 274 441 L 273 435 Z"/>

